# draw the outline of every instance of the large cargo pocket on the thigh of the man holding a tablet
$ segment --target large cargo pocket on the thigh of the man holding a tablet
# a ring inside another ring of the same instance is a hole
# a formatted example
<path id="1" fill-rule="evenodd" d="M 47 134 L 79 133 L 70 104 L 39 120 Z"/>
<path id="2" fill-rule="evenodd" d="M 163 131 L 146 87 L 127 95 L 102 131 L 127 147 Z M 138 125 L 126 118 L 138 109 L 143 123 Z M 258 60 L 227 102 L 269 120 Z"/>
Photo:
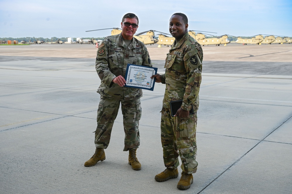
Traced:
<path id="1" fill-rule="evenodd" d="M 191 137 L 195 133 L 195 121 L 193 115 L 188 118 L 179 118 L 179 137 Z"/>

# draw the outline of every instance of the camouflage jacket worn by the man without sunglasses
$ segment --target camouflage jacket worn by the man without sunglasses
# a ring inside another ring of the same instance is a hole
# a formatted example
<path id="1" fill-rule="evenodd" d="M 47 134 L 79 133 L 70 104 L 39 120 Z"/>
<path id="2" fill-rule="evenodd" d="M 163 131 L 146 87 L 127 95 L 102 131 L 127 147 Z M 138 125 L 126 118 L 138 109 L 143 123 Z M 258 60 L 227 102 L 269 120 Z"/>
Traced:
<path id="1" fill-rule="evenodd" d="M 172 44 L 165 60 L 165 74 L 162 83 L 166 84 L 163 106 L 169 102 L 183 100 L 181 108 L 198 109 L 197 100 L 201 85 L 203 50 L 201 45 L 188 32 Z"/>

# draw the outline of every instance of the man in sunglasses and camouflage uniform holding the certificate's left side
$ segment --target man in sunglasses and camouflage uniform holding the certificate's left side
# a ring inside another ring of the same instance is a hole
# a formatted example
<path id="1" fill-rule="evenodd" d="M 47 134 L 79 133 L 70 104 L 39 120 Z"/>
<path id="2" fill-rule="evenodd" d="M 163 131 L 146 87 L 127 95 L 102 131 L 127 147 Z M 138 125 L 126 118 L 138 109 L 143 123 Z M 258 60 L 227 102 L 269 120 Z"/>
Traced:
<path id="1" fill-rule="evenodd" d="M 86 167 L 96 165 L 98 161 L 106 159 L 104 149 L 110 142 L 113 123 L 121 104 L 125 131 L 124 151 L 129 151 L 128 161 L 132 169 L 141 169 L 136 150 L 140 145 L 138 126 L 141 118 L 142 90 L 124 87 L 128 63 L 152 67 L 146 46 L 133 38 L 138 23 L 139 20 L 135 14 L 127 13 L 122 18 L 122 33 L 107 36 L 97 50 L 95 68 L 101 79 L 97 92 L 101 97 L 95 131 L 96 151 L 84 163 Z"/>

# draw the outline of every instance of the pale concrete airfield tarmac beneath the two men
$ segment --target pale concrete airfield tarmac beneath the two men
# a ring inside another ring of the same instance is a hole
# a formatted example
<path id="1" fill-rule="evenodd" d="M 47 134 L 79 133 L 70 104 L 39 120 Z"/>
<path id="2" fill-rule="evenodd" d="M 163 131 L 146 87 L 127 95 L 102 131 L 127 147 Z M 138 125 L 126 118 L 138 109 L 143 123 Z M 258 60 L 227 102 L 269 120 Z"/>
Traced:
<path id="1" fill-rule="evenodd" d="M 164 71 L 170 47 L 147 45 Z M 140 171 L 123 152 L 119 111 L 106 160 L 94 153 L 100 84 L 91 44 L 0 46 L 0 193 L 292 192 L 292 44 L 203 46 L 198 171 L 188 190 L 162 172 L 165 85 L 141 98 Z M 179 168 L 179 172 L 182 170 Z"/>

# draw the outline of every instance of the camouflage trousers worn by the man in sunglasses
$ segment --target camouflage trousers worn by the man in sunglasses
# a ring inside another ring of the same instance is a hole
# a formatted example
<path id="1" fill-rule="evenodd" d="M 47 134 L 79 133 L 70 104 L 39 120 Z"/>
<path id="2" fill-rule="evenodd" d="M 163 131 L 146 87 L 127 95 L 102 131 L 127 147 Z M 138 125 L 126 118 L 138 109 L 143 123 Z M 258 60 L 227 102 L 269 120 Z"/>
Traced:
<path id="1" fill-rule="evenodd" d="M 113 123 L 118 115 L 118 110 L 122 109 L 123 124 L 125 132 L 124 151 L 131 148 L 138 148 L 140 145 L 139 120 L 141 118 L 141 101 L 117 100 L 101 97 L 97 110 L 97 127 L 95 131 L 95 146 L 97 148 L 108 147 Z"/>

